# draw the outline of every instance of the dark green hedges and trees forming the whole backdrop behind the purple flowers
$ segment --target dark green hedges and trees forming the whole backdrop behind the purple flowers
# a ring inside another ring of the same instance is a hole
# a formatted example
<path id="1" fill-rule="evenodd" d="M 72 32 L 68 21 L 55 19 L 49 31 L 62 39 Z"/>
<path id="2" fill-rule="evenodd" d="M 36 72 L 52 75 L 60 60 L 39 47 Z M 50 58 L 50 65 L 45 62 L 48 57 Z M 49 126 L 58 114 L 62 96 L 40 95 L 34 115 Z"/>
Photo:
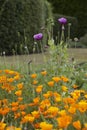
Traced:
<path id="1" fill-rule="evenodd" d="M 86 4 L 86 0 L 0 0 L 0 53 L 4 51 L 6 55 L 33 53 L 33 35 L 42 32 L 44 35 L 42 43 L 47 44 L 47 31 L 50 33 L 52 29 L 50 25 L 54 25 L 53 37 L 57 44 L 61 35 L 57 21 L 59 17 L 66 17 L 68 23 L 71 23 L 70 38 L 78 37 L 81 39 L 81 46 L 86 47 Z M 66 38 L 68 23 L 65 29 Z"/>

